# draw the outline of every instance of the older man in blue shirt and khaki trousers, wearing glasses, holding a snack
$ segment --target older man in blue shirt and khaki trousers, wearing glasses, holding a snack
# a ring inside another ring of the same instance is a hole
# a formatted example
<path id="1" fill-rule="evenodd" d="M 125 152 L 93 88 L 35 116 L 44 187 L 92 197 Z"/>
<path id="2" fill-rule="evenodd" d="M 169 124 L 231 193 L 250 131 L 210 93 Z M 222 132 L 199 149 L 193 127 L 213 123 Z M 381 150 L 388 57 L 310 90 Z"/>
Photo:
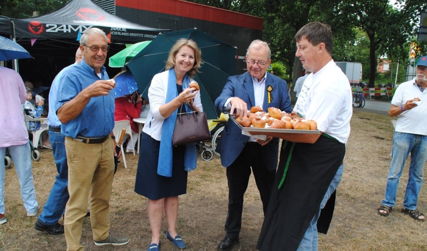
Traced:
<path id="1" fill-rule="evenodd" d="M 80 39 L 83 60 L 61 79 L 56 114 L 65 137 L 68 193 L 64 231 L 67 251 L 81 251 L 82 218 L 91 191 L 91 225 L 95 245 L 125 245 L 127 238 L 110 230 L 110 194 L 114 174 L 114 83 L 108 81 L 105 59 L 109 46 L 105 33 L 86 30 Z"/>

